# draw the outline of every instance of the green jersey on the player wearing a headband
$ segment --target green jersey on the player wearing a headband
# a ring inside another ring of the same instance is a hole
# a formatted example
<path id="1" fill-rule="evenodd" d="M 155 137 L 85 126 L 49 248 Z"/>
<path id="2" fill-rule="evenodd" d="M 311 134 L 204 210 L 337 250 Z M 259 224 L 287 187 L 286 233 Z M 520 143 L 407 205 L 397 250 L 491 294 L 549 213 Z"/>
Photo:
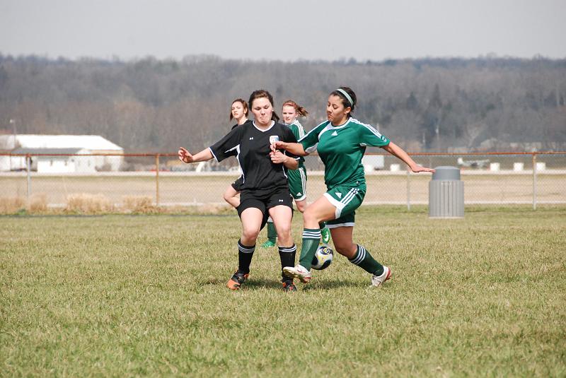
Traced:
<path id="1" fill-rule="evenodd" d="M 387 146 L 389 139 L 369 124 L 351 118 L 345 124 L 333 126 L 330 121 L 319 124 L 299 140 L 306 152 L 318 150 L 323 160 L 327 189 L 337 185 L 365 186 L 362 158 L 366 146 Z"/>

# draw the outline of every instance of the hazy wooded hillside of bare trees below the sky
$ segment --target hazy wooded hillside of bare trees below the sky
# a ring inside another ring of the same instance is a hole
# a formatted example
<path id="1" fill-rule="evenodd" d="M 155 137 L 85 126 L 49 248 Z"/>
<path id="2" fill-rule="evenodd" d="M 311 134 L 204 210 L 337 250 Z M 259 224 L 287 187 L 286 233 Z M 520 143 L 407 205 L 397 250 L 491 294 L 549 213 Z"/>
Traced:
<path id="1" fill-rule="evenodd" d="M 354 116 L 412 152 L 563 150 L 566 59 L 181 61 L 0 54 L 0 132 L 98 134 L 127 152 L 200 150 L 229 131 L 234 98 L 259 88 L 325 120 L 328 93 L 357 94 Z M 13 122 L 10 122 L 10 120 Z"/>

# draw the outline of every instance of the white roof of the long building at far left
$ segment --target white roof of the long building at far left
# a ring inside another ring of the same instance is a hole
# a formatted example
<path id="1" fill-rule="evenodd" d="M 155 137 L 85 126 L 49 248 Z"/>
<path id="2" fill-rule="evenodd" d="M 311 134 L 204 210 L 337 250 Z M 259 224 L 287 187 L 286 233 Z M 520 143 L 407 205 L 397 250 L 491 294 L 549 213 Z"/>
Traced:
<path id="1" fill-rule="evenodd" d="M 4 143 L 13 146 L 13 135 L 1 135 Z M 120 151 L 124 148 L 99 135 L 39 135 L 16 134 L 16 141 L 21 148 L 79 148 L 91 151 Z"/>

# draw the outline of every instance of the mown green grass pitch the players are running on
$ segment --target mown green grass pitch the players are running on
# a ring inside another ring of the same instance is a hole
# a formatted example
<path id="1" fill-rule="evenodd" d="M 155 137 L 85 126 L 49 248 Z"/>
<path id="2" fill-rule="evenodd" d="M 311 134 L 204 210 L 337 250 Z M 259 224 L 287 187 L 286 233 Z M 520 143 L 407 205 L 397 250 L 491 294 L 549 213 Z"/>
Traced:
<path id="1" fill-rule="evenodd" d="M 393 269 L 377 290 L 337 256 L 283 293 L 277 252 L 258 248 L 231 292 L 239 229 L 0 217 L 0 376 L 566 376 L 564 206 L 362 208 L 355 239 Z"/>

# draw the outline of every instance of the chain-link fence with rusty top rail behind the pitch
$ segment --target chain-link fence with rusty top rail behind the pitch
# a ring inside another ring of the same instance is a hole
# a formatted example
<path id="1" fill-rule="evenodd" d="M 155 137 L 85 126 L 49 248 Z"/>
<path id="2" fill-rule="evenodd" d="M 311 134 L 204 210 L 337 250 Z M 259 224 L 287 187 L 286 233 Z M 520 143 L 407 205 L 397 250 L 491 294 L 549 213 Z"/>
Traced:
<path id="1" fill-rule="evenodd" d="M 428 167 L 461 168 L 464 202 L 473 204 L 566 203 L 566 152 L 560 153 L 415 153 Z M 365 205 L 428 203 L 431 175 L 408 172 L 388 154 L 364 157 Z M 323 164 L 306 157 L 308 201 L 325 192 Z M 237 161 L 183 164 L 176 154 L 17 155 L 0 154 L 0 199 L 66 208 L 80 196 L 96 196 L 111 208 L 132 201 L 151 206 L 224 204 L 225 189 L 240 175 Z"/>

